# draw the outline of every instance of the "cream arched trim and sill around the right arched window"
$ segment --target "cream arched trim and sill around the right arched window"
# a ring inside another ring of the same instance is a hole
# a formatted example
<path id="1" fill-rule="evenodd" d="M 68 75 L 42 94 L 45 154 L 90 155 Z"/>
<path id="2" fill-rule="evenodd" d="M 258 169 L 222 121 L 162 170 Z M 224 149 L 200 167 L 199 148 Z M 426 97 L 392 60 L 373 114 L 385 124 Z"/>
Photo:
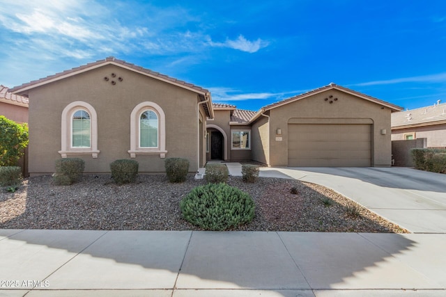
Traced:
<path id="1" fill-rule="evenodd" d="M 140 118 L 146 111 L 153 111 L 157 115 L 157 146 L 141 147 Z M 137 154 L 159 154 L 160 158 L 165 158 L 166 150 L 166 116 L 161 106 L 154 102 L 141 102 L 134 107 L 130 114 L 130 158 L 136 158 Z"/>

